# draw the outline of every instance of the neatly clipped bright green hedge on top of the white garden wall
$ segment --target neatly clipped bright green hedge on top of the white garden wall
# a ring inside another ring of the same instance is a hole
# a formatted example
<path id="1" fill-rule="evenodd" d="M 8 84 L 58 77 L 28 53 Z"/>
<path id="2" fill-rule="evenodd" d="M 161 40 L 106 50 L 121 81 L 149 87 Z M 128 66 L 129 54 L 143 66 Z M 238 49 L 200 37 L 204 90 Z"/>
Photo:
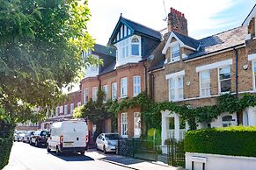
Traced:
<path id="1" fill-rule="evenodd" d="M 188 131 L 186 152 L 256 157 L 256 127 L 228 127 Z"/>

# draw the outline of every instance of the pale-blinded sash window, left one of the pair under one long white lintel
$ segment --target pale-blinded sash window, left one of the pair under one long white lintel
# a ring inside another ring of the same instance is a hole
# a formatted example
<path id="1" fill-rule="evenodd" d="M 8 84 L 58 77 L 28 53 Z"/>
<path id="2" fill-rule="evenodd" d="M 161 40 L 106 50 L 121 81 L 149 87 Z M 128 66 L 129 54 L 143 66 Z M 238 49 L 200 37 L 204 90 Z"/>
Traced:
<path id="1" fill-rule="evenodd" d="M 200 96 L 210 96 L 210 71 L 202 71 L 200 77 Z"/>

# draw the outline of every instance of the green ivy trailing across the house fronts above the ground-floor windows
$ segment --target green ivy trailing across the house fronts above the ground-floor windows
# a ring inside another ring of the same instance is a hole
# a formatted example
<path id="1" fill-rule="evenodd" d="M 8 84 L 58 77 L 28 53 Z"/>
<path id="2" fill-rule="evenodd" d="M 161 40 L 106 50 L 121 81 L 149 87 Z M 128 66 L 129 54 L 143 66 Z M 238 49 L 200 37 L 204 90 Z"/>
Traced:
<path id="1" fill-rule="evenodd" d="M 141 93 L 139 96 L 133 98 L 122 99 L 120 102 L 108 102 L 106 108 L 108 112 L 117 114 L 121 111 L 126 111 L 135 106 L 141 107 L 143 120 L 150 128 L 159 129 L 161 127 L 161 111 L 170 110 L 179 114 L 179 116 L 186 120 L 191 130 L 196 129 L 196 123 L 210 123 L 212 119 L 217 118 L 223 112 L 230 114 L 245 110 L 250 106 L 256 106 L 256 96 L 245 94 L 239 98 L 234 95 L 225 94 L 217 97 L 217 103 L 211 106 L 201 106 L 191 108 L 187 104 L 178 105 L 172 102 L 153 102 L 146 93 Z"/>

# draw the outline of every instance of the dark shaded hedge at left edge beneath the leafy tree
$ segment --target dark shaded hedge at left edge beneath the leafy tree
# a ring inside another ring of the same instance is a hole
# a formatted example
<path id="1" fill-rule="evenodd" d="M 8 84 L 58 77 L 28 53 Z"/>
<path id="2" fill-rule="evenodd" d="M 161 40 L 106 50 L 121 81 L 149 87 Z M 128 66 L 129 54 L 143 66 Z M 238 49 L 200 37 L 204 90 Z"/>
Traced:
<path id="1" fill-rule="evenodd" d="M 13 137 L 0 138 L 0 169 L 3 169 L 9 162 Z"/>

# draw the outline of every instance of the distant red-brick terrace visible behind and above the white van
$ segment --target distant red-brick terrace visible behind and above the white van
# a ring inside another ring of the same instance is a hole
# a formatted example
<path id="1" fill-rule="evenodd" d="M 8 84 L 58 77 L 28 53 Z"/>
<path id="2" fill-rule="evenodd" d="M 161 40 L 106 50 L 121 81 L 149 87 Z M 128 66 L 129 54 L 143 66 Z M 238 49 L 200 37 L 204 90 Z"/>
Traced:
<path id="1" fill-rule="evenodd" d="M 54 122 L 73 117 L 73 110 L 81 105 L 81 91 L 75 91 L 68 94 L 68 99 L 60 103 L 55 110 L 50 112 L 48 120 L 40 124 L 40 129 L 49 129 Z"/>

